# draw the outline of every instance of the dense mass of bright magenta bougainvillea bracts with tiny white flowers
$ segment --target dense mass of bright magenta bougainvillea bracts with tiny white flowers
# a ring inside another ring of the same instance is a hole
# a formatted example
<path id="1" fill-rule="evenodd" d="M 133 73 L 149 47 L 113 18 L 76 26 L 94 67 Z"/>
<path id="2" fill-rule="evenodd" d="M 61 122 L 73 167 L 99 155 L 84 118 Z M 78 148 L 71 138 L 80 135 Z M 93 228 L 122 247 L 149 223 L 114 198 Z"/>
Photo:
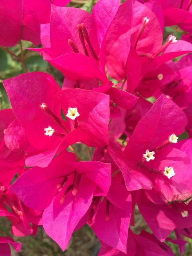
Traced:
<path id="1" fill-rule="evenodd" d="M 3 81 L 12 109 L 0 110 L 0 216 L 15 236 L 42 225 L 63 250 L 87 223 L 99 256 L 173 256 L 164 241 L 182 253 L 181 235 L 192 238 L 192 1 L 99 0 L 92 14 L 32 2 L 1 1 L 0 44 L 42 43 L 32 50 L 65 79 L 62 89 L 44 72 Z M 163 43 L 174 25 L 181 40 Z M 152 234 L 133 233 L 136 204 Z M 0 255 L 8 243 L 21 247 L 0 237 Z"/>

